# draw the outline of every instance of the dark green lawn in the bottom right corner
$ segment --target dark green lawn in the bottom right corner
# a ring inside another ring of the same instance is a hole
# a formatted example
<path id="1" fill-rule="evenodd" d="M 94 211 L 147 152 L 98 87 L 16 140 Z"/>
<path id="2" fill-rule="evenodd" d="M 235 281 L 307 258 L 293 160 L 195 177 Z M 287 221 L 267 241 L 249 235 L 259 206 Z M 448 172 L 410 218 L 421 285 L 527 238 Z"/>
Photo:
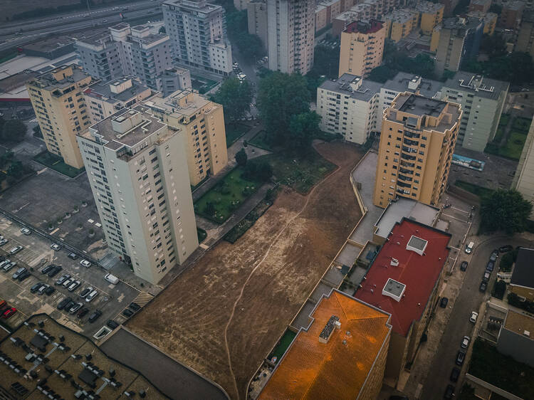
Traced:
<path id="1" fill-rule="evenodd" d="M 469 374 L 523 399 L 534 399 L 534 368 L 501 354 L 491 344 L 477 339 Z"/>

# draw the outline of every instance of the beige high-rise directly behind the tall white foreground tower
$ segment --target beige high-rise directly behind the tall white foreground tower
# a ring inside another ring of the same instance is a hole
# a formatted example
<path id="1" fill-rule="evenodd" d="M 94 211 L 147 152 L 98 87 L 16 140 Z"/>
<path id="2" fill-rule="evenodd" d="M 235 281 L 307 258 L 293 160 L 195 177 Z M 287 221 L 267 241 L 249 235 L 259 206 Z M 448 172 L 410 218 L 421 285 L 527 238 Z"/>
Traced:
<path id="1" fill-rule="evenodd" d="M 228 164 L 223 107 L 189 90 L 143 102 L 154 115 L 184 131 L 187 168 L 192 186 L 208 174 L 216 175 Z"/>

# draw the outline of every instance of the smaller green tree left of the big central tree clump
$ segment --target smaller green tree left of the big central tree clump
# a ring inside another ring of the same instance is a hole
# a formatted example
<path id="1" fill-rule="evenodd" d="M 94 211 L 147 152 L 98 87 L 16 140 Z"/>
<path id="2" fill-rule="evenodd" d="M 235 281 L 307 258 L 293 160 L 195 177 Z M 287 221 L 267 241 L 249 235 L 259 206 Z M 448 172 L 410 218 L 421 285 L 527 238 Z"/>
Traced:
<path id="1" fill-rule="evenodd" d="M 253 90 L 248 80 L 241 82 L 238 78 L 224 80 L 211 100 L 224 107 L 224 117 L 236 122 L 251 110 Z"/>

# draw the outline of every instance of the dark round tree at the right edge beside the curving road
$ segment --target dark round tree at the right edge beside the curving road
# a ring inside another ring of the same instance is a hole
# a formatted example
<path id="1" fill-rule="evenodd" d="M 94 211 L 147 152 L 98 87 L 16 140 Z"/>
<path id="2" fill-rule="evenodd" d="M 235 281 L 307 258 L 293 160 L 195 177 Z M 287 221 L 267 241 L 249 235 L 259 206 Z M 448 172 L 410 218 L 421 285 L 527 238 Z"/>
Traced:
<path id="1" fill-rule="evenodd" d="M 483 233 L 505 231 L 508 235 L 523 232 L 532 211 L 532 204 L 515 190 L 498 189 L 481 200 L 481 225 Z"/>

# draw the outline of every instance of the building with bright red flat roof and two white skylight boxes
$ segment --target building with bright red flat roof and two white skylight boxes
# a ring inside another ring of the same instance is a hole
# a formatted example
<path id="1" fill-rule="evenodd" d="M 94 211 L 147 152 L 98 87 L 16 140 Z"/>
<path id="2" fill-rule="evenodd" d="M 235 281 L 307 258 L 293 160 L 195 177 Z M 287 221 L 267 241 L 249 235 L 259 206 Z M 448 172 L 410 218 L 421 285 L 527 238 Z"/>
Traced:
<path id="1" fill-rule="evenodd" d="M 450 239 L 450 233 L 402 219 L 354 295 L 392 315 L 385 378 L 395 383 L 402 369 L 414 361 L 437 304 Z"/>

